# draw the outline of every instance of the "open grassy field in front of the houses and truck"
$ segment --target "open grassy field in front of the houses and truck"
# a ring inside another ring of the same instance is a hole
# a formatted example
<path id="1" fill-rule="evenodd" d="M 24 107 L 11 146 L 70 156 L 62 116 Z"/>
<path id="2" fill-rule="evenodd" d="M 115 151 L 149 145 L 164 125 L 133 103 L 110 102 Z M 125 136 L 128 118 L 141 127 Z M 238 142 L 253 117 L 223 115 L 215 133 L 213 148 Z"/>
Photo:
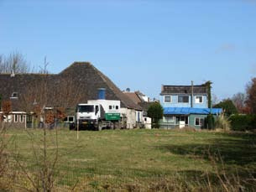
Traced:
<path id="1" fill-rule="evenodd" d="M 256 135 L 167 130 L 58 131 L 55 190 L 168 191 L 256 189 Z M 33 175 L 43 158 L 42 130 L 9 130 L 13 164 Z M 47 132 L 47 157 L 55 154 Z M 16 168 L 17 169 L 17 168 Z M 26 184 L 26 176 L 23 177 Z M 223 184 L 224 183 L 224 184 Z"/>

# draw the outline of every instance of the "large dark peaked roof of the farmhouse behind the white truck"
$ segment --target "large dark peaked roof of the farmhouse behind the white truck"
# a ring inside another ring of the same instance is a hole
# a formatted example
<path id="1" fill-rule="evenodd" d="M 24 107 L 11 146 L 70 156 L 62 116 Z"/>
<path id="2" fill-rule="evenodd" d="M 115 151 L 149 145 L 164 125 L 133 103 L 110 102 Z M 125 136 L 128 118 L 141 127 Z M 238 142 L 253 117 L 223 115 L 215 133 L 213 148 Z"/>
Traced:
<path id="1" fill-rule="evenodd" d="M 68 106 L 75 107 L 77 103 L 97 99 L 98 88 L 106 88 L 107 100 L 120 100 L 122 107 L 142 109 L 125 96 L 112 80 L 88 62 L 75 62 L 57 75 L 0 75 L 0 95 L 3 100 L 8 100 L 13 92 L 18 93 L 19 102 L 17 99 L 13 100 L 13 104 L 19 103 L 15 105 L 16 110 L 23 110 L 25 100 L 31 103 L 42 101 L 42 95 L 47 97 L 44 101 L 48 106 L 65 106 L 65 101 L 69 101 Z M 47 94 L 44 94 L 45 91 Z M 31 97 L 30 100 L 27 97 Z"/>

